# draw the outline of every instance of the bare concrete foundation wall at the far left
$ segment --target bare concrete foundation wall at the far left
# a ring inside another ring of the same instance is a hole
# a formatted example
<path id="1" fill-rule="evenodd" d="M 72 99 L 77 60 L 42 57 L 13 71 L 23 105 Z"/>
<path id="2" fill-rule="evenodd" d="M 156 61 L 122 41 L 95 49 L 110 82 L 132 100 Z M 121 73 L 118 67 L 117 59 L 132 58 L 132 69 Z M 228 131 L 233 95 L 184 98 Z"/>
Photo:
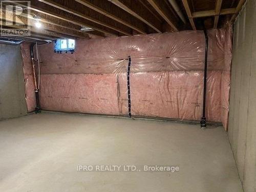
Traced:
<path id="1" fill-rule="evenodd" d="M 27 114 L 20 46 L 0 44 L 0 120 Z"/>

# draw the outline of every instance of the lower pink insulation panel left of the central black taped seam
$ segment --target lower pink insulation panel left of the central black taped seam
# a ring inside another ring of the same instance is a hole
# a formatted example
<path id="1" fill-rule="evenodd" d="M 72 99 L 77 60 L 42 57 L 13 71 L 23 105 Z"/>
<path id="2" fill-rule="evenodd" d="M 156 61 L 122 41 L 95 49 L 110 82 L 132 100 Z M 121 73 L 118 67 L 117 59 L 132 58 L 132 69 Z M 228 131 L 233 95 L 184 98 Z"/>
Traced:
<path id="1" fill-rule="evenodd" d="M 41 75 L 41 108 L 119 115 L 115 74 Z"/>

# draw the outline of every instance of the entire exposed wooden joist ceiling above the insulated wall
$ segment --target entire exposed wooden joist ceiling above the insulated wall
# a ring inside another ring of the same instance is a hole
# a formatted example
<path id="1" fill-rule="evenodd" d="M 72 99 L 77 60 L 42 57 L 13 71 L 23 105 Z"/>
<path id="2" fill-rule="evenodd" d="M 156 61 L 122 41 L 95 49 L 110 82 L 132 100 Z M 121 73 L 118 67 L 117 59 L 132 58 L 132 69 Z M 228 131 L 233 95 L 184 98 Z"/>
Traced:
<path id="1" fill-rule="evenodd" d="M 207 17 L 214 17 L 214 24 L 208 23 L 208 28 L 217 29 L 223 27 L 225 19 L 232 23 L 246 0 L 181 1 L 182 5 L 178 3 L 175 8 L 170 0 L 31 0 L 30 7 L 23 10 L 24 16 L 17 17 L 26 17 L 26 10 L 30 10 L 35 38 L 124 36 L 189 30 L 190 26 L 180 22 L 178 14 L 183 9 L 193 30 L 197 30 L 197 18 L 203 21 Z M 19 1 L 12 3 L 22 5 Z M 231 19 L 221 16 L 229 14 Z M 37 17 L 42 24 L 39 29 L 34 28 Z"/>

